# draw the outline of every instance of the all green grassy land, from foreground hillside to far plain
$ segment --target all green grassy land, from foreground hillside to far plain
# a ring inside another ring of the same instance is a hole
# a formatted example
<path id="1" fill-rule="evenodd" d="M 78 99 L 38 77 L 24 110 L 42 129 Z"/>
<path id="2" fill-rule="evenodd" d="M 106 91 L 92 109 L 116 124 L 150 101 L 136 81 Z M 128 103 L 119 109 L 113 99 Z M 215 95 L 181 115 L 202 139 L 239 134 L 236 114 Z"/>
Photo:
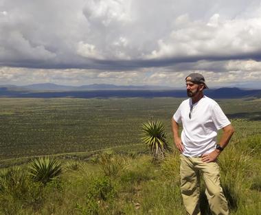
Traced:
<path id="1" fill-rule="evenodd" d="M 170 117 L 180 102 L 1 98 L 0 214 L 185 214 L 177 150 L 155 165 L 141 143 L 142 124 L 152 117 L 172 143 Z M 219 159 L 231 215 L 258 215 L 261 100 L 218 103 L 236 128 Z M 34 180 L 32 157 L 52 154 L 62 170 L 58 179 Z M 203 183 L 201 210 L 210 214 Z"/>

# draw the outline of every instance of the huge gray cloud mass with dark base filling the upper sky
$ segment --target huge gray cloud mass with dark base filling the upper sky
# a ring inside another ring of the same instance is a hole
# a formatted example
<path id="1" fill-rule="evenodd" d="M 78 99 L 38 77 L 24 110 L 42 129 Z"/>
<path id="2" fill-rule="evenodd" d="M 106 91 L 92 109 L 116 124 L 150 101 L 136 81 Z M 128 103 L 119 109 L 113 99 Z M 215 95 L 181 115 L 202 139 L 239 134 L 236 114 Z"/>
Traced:
<path id="1" fill-rule="evenodd" d="M 1 1 L 0 65 L 128 69 L 260 60 L 258 12 L 260 1 Z"/>

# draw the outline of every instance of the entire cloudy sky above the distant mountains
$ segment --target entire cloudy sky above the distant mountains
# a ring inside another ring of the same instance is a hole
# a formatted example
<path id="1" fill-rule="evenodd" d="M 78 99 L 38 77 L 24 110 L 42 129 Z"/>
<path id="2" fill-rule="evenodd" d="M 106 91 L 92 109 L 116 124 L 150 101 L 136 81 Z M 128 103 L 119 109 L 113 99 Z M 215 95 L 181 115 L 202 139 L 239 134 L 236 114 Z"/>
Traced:
<path id="1" fill-rule="evenodd" d="M 0 84 L 261 89 L 261 1 L 0 0 Z"/>

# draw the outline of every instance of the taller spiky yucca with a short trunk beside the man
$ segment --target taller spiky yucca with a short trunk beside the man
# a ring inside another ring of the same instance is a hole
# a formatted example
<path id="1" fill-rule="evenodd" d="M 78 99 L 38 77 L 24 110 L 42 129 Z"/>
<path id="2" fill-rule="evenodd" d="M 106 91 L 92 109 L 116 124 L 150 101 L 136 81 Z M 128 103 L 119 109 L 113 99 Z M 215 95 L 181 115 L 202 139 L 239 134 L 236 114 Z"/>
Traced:
<path id="1" fill-rule="evenodd" d="M 150 147 L 153 161 L 163 159 L 166 150 L 169 150 L 167 134 L 163 122 L 150 120 L 142 124 L 142 142 Z"/>

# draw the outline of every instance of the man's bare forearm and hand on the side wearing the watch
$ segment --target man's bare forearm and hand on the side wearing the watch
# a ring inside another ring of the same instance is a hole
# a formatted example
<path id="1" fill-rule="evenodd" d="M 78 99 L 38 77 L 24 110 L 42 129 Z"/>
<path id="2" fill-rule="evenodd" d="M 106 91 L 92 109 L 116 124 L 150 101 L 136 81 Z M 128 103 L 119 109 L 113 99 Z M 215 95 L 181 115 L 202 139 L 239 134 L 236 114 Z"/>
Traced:
<path id="1" fill-rule="evenodd" d="M 220 138 L 220 142 L 219 145 L 222 148 L 225 148 L 227 146 L 227 144 L 229 143 L 229 140 L 231 139 L 232 135 L 234 134 L 235 130 L 233 128 L 233 126 L 231 126 L 231 124 L 229 124 L 228 126 L 225 126 L 223 128 L 223 134 Z M 202 155 L 202 161 L 203 162 L 212 162 L 212 161 L 216 161 L 218 155 L 220 155 L 220 150 L 216 149 L 213 152 L 210 152 L 209 154 L 205 154 Z"/>

